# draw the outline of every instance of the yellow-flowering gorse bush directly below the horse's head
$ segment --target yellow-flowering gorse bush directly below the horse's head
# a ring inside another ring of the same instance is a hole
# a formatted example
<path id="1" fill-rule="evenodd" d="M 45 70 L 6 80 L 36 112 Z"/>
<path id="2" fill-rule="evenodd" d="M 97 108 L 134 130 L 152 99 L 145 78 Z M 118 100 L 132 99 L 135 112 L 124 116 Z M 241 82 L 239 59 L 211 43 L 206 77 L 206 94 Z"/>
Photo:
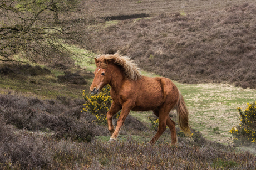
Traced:
<path id="1" fill-rule="evenodd" d="M 107 117 L 106 113 L 109 111 L 112 104 L 110 97 L 110 86 L 107 85 L 102 89 L 99 95 L 86 95 L 83 90 L 83 99 L 85 99 L 85 107 L 83 111 L 90 112 L 90 114 L 96 117 L 95 121 L 98 125 L 106 125 Z"/>

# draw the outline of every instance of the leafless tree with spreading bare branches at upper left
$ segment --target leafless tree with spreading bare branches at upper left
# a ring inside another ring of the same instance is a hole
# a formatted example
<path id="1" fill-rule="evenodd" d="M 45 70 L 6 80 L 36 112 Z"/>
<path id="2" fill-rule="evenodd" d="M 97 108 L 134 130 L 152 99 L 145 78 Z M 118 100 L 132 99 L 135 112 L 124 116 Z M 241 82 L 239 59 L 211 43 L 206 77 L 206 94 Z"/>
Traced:
<path id="1" fill-rule="evenodd" d="M 1 0 L 0 61 L 65 59 L 67 43 L 86 48 L 99 22 L 97 4 L 82 0 Z"/>

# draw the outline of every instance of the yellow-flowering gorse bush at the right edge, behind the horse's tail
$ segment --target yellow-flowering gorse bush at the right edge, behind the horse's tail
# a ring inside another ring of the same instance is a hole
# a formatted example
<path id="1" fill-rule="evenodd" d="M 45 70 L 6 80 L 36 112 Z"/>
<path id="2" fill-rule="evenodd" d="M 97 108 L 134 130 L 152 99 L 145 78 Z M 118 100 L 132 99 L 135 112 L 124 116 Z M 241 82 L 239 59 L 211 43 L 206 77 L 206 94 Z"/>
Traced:
<path id="1" fill-rule="evenodd" d="M 234 143 L 238 145 L 256 144 L 256 102 L 253 104 L 247 103 L 247 108 L 242 111 L 237 107 L 240 114 L 240 124 L 237 127 L 232 127 L 229 131 L 234 137 Z"/>

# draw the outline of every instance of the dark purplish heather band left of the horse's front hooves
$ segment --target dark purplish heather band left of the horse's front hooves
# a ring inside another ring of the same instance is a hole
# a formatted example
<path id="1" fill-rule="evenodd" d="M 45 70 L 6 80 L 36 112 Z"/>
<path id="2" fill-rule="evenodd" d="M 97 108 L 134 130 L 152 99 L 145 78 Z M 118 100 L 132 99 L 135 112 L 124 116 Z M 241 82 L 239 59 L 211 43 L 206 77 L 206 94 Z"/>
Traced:
<path id="1" fill-rule="evenodd" d="M 73 141 L 90 142 L 94 136 L 109 134 L 104 127 L 91 123 L 91 115 L 82 112 L 81 100 L 58 98 L 44 101 L 0 95 L 0 116 L 20 130 L 51 132 L 53 137 Z"/>

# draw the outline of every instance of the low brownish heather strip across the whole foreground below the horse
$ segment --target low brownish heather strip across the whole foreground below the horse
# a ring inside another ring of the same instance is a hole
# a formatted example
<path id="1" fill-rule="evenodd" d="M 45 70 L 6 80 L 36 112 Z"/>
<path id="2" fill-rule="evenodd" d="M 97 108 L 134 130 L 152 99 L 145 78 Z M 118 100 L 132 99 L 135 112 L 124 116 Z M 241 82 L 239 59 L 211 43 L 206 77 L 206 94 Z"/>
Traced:
<path id="1" fill-rule="evenodd" d="M 93 126 L 95 123 L 87 125 L 91 130 L 102 131 L 101 126 Z M 83 128 L 76 129 L 84 134 Z M 0 115 L 0 169 L 255 169 L 253 154 L 235 153 L 231 146 L 208 140 L 198 145 L 178 137 L 176 146 L 145 145 L 132 137 L 115 143 L 80 143 L 72 137 L 56 140 L 47 133 L 16 130 Z"/>

